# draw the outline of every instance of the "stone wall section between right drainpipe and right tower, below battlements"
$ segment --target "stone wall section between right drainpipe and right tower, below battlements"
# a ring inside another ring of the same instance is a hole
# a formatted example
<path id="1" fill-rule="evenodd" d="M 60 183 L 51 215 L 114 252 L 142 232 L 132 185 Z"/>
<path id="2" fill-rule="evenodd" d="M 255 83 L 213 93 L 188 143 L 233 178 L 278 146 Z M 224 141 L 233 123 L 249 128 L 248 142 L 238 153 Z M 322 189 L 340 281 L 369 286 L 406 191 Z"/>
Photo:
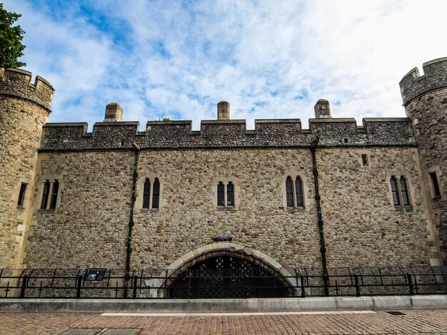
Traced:
<path id="1" fill-rule="evenodd" d="M 416 149 L 326 148 L 317 154 L 328 267 L 431 262 Z M 368 165 L 361 165 L 361 154 Z M 391 175 L 405 175 L 411 207 L 393 206 Z"/>

